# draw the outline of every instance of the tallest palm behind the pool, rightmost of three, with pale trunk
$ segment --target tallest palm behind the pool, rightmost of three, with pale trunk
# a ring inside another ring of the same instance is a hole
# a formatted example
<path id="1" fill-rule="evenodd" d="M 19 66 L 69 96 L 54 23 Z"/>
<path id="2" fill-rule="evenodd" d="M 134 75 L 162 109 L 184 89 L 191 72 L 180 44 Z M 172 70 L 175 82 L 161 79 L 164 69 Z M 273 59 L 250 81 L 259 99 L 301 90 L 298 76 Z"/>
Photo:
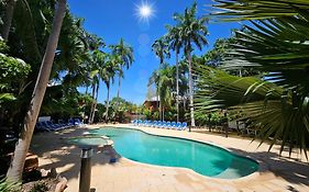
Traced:
<path id="1" fill-rule="evenodd" d="M 180 30 L 180 38 L 183 39 L 185 55 L 189 64 L 189 98 L 190 98 L 190 117 L 191 126 L 195 124 L 195 110 L 194 110 L 194 81 L 192 81 L 192 65 L 191 65 L 191 52 L 194 50 L 194 44 L 201 50 L 203 45 L 208 45 L 206 35 L 208 30 L 206 23 L 207 18 L 197 18 L 197 3 L 195 2 L 190 9 L 186 9 L 184 15 L 175 14 L 174 19 Z M 191 128 L 189 127 L 189 132 Z"/>

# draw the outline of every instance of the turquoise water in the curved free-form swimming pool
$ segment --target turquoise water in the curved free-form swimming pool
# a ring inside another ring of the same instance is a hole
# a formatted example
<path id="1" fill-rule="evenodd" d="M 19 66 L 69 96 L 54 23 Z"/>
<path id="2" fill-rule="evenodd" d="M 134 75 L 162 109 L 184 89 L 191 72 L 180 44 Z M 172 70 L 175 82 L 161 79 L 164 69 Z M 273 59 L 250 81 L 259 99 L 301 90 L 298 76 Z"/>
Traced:
<path id="1" fill-rule="evenodd" d="M 258 169 L 256 161 L 194 140 L 154 136 L 130 128 L 100 128 L 93 134 L 114 142 L 121 156 L 151 165 L 189 168 L 203 176 L 241 178 Z"/>

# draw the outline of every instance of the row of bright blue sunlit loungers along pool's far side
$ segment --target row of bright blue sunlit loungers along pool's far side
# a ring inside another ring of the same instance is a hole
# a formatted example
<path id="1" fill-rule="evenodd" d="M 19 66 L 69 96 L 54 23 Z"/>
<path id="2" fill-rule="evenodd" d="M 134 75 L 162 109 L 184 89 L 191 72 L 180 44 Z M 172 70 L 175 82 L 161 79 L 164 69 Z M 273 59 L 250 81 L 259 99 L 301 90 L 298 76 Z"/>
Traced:
<path id="1" fill-rule="evenodd" d="M 141 126 L 150 126 L 150 127 L 156 127 L 156 128 L 168 128 L 168 129 L 178 129 L 178 131 L 184 131 L 187 128 L 187 123 L 184 122 L 165 122 L 165 121 L 150 121 L 150 120 L 134 120 L 133 125 L 141 125 Z"/>

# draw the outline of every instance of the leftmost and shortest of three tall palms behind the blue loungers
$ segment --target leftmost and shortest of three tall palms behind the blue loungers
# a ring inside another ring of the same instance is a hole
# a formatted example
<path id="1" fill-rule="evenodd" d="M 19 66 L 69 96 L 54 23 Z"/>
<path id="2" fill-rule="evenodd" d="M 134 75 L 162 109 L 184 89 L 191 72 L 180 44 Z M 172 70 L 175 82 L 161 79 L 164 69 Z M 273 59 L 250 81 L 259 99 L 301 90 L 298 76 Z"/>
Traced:
<path id="1" fill-rule="evenodd" d="M 166 41 L 166 36 L 163 36 L 158 39 L 156 39 L 152 45 L 152 50 L 155 53 L 155 55 L 159 58 L 159 68 L 164 65 L 164 58 L 169 58 L 170 54 L 168 52 L 168 43 Z M 159 91 L 159 90 L 157 90 Z M 157 93 L 159 95 L 159 92 Z M 158 100 L 158 97 L 157 97 Z M 162 120 L 162 104 L 161 101 L 157 101 L 159 103 L 159 118 Z"/>

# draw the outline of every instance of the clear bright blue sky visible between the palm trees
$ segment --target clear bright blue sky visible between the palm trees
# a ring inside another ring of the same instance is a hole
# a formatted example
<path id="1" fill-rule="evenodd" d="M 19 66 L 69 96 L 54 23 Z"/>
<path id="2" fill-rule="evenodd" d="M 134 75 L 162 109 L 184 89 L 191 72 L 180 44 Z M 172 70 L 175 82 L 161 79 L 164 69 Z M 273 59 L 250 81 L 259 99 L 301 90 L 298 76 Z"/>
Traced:
<path id="1" fill-rule="evenodd" d="M 152 52 L 152 44 L 155 39 L 166 33 L 166 24 L 175 24 L 174 13 L 184 13 L 194 0 L 68 0 L 70 12 L 78 18 L 84 18 L 84 26 L 89 33 L 102 37 L 107 45 L 117 44 L 121 37 L 134 49 L 134 63 L 124 71 L 124 79 L 121 82 L 120 97 L 126 101 L 142 104 L 146 98 L 147 81 L 152 72 L 158 68 L 159 59 Z M 197 0 L 198 15 L 207 15 L 208 5 L 211 0 Z M 140 20 L 137 7 L 150 4 L 153 15 L 148 21 Z M 229 37 L 231 29 L 240 27 L 239 23 L 213 23 L 207 24 L 209 35 L 208 43 L 202 52 L 209 50 L 216 39 Z M 175 65 L 175 55 L 166 60 Z M 107 89 L 101 82 L 99 90 L 99 102 L 103 103 L 107 98 Z M 111 87 L 110 98 L 117 95 L 118 78 Z M 85 88 L 79 88 L 85 92 Z"/>

